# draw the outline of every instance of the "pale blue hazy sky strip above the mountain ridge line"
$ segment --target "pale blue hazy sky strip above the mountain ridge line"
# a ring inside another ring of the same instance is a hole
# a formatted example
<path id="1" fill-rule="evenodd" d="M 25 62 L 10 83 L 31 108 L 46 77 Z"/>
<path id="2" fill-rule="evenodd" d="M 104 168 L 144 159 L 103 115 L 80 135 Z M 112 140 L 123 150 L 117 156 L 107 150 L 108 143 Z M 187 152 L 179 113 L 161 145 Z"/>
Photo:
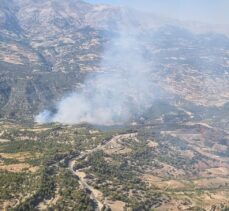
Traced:
<path id="1" fill-rule="evenodd" d="M 217 25 L 229 24 L 229 1 L 226 0 L 86 0 L 90 3 L 105 3 L 128 6 L 185 21 L 205 22 Z"/>

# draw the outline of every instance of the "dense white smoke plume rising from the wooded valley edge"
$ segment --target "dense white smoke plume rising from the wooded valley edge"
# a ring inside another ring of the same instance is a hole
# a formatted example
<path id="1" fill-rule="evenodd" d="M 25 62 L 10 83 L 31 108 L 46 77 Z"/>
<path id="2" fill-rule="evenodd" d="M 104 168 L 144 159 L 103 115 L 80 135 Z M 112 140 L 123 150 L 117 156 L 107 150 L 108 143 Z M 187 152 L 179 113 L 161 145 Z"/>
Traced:
<path id="1" fill-rule="evenodd" d="M 101 69 L 104 72 L 89 75 L 82 91 L 59 102 L 55 114 L 44 111 L 36 121 L 122 124 L 152 105 L 152 71 L 144 58 L 140 30 L 127 16 L 119 21 L 116 35 L 106 46 Z"/>

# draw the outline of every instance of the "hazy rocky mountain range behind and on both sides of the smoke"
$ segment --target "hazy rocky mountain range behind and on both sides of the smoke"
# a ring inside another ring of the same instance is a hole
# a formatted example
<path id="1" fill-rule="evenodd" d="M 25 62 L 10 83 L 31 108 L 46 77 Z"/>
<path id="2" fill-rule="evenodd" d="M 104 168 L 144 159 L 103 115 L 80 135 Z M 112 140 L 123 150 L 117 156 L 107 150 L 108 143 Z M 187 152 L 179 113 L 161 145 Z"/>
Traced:
<path id="1" fill-rule="evenodd" d="M 174 21 L 136 14 L 80 0 L 1 0 L 0 116 L 32 120 L 79 88 L 88 73 L 100 71 L 104 46 L 124 17 L 141 32 L 152 80 L 164 92 L 198 106 L 228 102 L 225 35 L 198 35 Z"/>

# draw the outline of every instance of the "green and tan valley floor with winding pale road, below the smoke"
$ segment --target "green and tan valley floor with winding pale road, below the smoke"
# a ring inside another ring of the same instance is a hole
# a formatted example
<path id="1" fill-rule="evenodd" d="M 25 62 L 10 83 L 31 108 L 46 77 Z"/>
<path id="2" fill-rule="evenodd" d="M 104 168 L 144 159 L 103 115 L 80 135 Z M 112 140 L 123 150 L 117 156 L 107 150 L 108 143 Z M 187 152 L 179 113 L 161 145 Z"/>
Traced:
<path id="1" fill-rule="evenodd" d="M 220 138 L 219 138 L 220 137 Z M 227 131 L 0 123 L 1 210 L 227 210 Z"/>

